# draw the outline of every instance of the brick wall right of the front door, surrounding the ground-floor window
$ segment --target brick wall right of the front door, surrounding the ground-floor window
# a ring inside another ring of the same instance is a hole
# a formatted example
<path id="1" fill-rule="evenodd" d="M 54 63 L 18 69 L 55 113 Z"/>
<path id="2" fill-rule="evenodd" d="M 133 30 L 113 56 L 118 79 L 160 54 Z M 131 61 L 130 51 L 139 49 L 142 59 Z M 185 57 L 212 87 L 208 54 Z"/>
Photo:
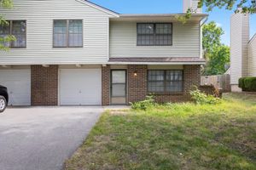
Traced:
<path id="1" fill-rule="evenodd" d="M 128 65 L 128 101 L 136 102 L 145 99 L 147 95 L 147 65 Z M 137 71 L 137 77 L 133 76 Z M 201 66 L 184 65 L 183 93 L 154 94 L 157 102 L 181 102 L 190 99 L 189 91 L 193 86 L 200 86 Z"/>

